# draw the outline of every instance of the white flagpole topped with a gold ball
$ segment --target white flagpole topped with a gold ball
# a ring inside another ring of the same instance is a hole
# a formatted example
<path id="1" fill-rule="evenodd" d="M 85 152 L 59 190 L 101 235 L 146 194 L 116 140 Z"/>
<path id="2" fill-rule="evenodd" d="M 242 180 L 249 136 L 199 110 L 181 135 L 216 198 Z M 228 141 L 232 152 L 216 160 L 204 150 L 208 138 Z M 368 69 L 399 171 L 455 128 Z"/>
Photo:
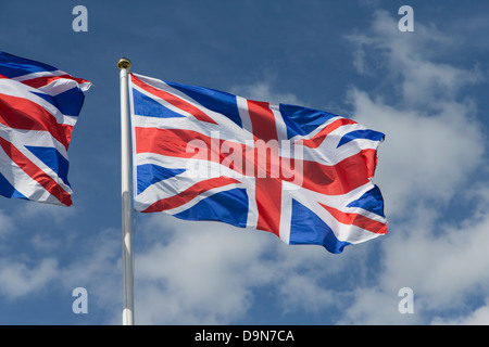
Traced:
<path id="1" fill-rule="evenodd" d="M 130 141 L 127 75 L 130 61 L 122 57 L 121 69 L 121 179 L 122 179 L 122 233 L 123 233 L 123 325 L 134 325 L 134 262 L 133 262 L 133 209 L 130 191 Z"/>

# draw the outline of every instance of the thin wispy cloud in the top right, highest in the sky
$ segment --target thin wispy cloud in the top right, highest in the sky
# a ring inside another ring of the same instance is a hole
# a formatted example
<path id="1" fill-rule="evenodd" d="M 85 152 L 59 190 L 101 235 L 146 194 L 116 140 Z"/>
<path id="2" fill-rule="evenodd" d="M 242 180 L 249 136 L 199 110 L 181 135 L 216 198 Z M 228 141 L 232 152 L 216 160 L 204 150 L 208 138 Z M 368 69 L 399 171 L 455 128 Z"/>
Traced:
<path id="1" fill-rule="evenodd" d="M 466 69 L 443 63 L 447 50 L 456 52 L 453 48 L 461 42 L 419 21 L 415 31 L 401 33 L 394 18 L 377 11 L 367 34 L 347 38 L 356 46 L 358 72 L 388 79 L 389 88 L 401 93 L 404 105 L 411 107 L 430 108 L 440 101 L 453 101 L 462 88 L 484 78 L 477 65 Z"/>

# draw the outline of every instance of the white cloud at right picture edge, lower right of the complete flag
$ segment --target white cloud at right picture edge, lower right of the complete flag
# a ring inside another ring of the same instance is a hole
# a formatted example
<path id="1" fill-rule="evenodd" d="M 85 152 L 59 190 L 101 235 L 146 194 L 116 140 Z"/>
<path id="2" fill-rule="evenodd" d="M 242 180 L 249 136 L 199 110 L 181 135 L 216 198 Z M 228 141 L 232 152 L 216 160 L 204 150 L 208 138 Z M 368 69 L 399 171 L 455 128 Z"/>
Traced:
<path id="1" fill-rule="evenodd" d="M 450 310 L 480 295 L 489 284 L 489 215 L 456 224 L 434 222 L 432 216 L 404 223 L 385 247 L 383 288 L 410 286 L 424 310 Z M 431 219 L 431 220 L 430 220 Z M 437 234 L 435 234 L 437 233 Z"/>

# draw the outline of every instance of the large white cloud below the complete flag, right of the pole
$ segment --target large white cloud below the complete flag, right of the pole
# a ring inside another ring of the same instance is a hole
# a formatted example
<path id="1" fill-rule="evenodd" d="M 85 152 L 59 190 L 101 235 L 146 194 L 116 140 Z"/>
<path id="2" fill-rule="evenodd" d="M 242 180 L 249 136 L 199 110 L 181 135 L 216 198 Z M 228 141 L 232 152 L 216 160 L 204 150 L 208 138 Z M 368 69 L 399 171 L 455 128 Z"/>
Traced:
<path id="1" fill-rule="evenodd" d="M 140 324 L 228 324 L 263 297 L 284 314 L 317 313 L 344 297 L 321 280 L 354 261 L 322 247 L 286 245 L 267 232 L 165 214 L 139 223 L 137 233 L 149 245 L 136 256 Z"/>

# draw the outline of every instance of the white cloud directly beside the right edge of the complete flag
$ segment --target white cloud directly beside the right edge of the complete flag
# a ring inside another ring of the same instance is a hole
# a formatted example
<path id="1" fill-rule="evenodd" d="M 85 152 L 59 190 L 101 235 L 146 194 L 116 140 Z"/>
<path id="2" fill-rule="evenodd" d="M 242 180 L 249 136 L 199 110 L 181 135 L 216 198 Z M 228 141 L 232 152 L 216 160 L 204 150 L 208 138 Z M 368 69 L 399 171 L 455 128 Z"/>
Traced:
<path id="1" fill-rule="evenodd" d="M 355 119 L 386 133 L 375 180 L 391 216 L 413 203 L 450 201 L 481 163 L 485 141 L 472 106 L 450 103 L 427 114 L 387 105 L 355 89 L 350 98 Z"/>

